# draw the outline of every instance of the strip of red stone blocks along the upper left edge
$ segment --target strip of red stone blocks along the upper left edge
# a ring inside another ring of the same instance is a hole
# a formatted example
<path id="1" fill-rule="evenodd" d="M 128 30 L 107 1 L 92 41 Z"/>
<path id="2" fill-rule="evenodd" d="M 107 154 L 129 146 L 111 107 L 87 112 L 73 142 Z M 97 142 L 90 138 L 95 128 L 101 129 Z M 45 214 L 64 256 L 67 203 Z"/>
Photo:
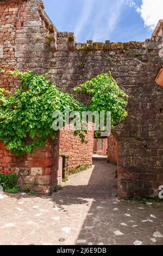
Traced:
<path id="1" fill-rule="evenodd" d="M 26 2 L 22 3 L 22 8 Z M 16 84 L 12 76 L 5 75 L 1 68 L 13 70 L 16 68 L 17 59 L 15 57 L 15 36 L 16 29 L 20 23 L 16 19 L 18 2 L 1 1 L 0 3 L 0 87 L 5 89 L 15 88 Z"/>

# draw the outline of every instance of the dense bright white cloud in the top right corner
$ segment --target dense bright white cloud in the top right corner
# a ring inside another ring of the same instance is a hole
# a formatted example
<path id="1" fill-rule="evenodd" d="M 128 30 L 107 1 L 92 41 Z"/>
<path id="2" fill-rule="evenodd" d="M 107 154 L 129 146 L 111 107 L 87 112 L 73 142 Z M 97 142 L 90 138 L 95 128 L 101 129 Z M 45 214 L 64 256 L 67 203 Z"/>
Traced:
<path id="1" fill-rule="evenodd" d="M 136 11 L 142 17 L 145 26 L 149 29 L 154 29 L 158 21 L 163 19 L 163 1 L 162 0 L 142 0 L 140 7 L 132 0 L 127 0 L 131 7 L 134 7 Z"/>

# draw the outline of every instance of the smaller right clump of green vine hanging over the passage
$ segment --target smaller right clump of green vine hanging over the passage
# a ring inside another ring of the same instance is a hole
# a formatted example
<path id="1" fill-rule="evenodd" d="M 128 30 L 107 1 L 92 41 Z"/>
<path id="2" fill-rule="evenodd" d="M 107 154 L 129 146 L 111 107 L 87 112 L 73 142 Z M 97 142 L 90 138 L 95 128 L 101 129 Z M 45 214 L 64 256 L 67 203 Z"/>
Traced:
<path id="1" fill-rule="evenodd" d="M 128 95 L 118 87 L 111 72 L 98 75 L 74 89 L 76 92 L 85 92 L 91 95 L 87 106 L 89 111 L 110 111 L 111 126 L 114 126 L 127 117 Z"/>

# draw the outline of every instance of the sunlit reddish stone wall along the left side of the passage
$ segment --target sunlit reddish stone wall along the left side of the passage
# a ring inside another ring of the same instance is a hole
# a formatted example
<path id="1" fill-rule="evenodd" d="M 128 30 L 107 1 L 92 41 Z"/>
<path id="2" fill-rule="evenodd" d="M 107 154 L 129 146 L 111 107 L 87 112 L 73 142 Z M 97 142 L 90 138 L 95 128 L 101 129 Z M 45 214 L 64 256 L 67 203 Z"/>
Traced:
<path id="1" fill-rule="evenodd" d="M 68 155 L 68 172 L 92 165 L 94 131 L 87 131 L 82 144 L 79 136 L 75 137 L 73 131 L 60 130 L 59 149 L 61 154 Z"/>

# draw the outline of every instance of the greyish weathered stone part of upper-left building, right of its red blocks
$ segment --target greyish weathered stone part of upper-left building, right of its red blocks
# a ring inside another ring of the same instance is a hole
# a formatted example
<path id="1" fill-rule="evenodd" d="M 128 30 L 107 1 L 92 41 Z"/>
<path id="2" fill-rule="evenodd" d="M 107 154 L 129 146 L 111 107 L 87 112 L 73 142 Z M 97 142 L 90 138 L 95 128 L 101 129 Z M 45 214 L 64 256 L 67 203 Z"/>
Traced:
<path id="1" fill-rule="evenodd" d="M 16 29 L 16 69 L 43 74 L 49 70 L 48 58 L 51 56 L 47 38 L 49 21 L 42 16 L 40 0 L 27 1 L 26 5 L 21 10 L 22 27 Z"/>

